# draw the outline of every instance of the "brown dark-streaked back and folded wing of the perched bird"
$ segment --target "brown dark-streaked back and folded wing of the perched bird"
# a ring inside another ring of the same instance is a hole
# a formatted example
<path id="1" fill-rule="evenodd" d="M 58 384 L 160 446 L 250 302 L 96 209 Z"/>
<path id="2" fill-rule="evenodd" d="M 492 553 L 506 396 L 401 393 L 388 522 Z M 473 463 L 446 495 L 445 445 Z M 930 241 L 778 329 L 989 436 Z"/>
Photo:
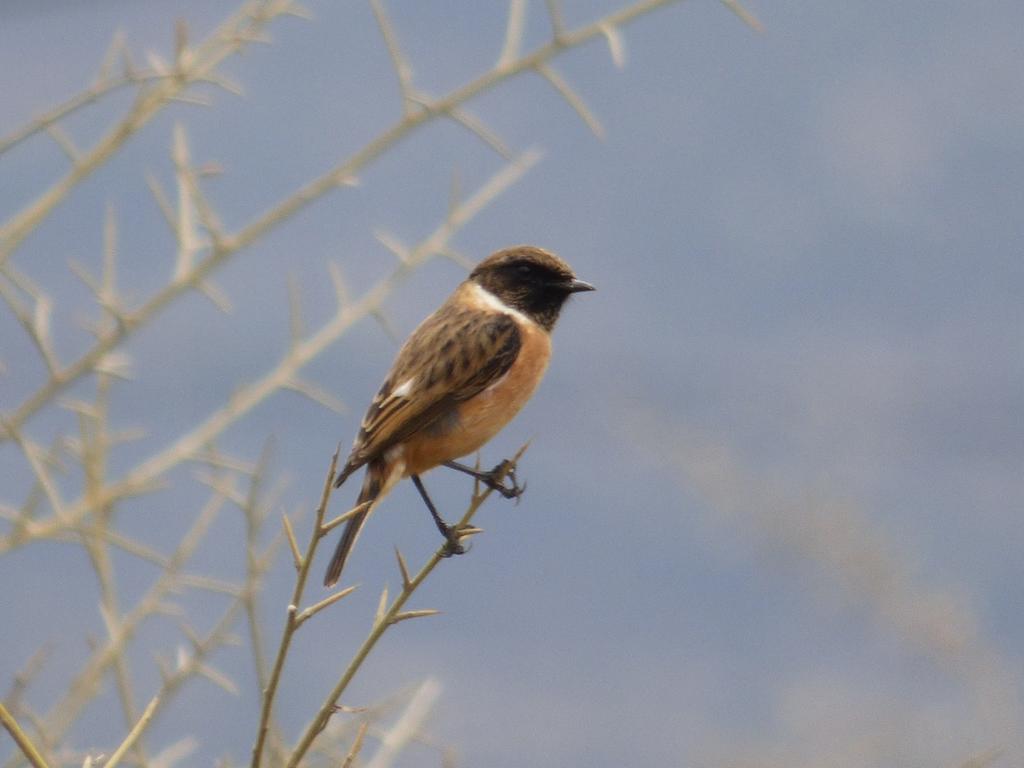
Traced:
<path id="1" fill-rule="evenodd" d="M 507 314 L 445 304 L 430 315 L 402 345 L 370 403 L 338 484 L 504 376 L 521 345 Z"/>

